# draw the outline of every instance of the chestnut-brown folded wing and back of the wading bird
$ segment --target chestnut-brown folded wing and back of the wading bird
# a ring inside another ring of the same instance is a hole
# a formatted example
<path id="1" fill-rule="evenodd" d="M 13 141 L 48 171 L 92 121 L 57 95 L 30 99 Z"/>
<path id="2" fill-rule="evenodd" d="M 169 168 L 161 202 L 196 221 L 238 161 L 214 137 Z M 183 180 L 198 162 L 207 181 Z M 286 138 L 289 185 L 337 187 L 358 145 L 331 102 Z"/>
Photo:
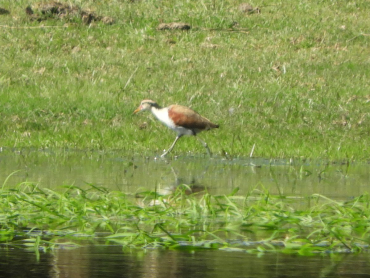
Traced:
<path id="1" fill-rule="evenodd" d="M 183 126 L 188 129 L 211 129 L 218 128 L 218 125 L 211 123 L 207 118 L 202 117 L 193 109 L 181 105 L 171 105 L 168 107 L 168 116 L 174 121 L 175 125 Z"/>

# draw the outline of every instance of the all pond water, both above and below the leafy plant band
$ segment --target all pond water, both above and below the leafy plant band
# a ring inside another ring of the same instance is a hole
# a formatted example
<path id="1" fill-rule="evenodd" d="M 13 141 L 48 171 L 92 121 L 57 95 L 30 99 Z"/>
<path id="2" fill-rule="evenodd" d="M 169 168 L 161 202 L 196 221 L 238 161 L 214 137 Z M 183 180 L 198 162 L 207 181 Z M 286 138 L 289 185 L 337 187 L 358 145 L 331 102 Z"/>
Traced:
<path id="1" fill-rule="evenodd" d="M 13 174 L 12 174 L 13 173 Z M 2 149 L 0 181 L 11 188 L 31 182 L 41 188 L 104 186 L 123 192 L 169 191 L 181 183 L 212 194 L 267 189 L 272 194 L 319 193 L 350 199 L 369 192 L 366 163 L 323 163 L 204 157 L 157 159 L 120 152 Z M 5 182 L 6 181 L 6 182 Z M 60 248 L 37 261 L 34 252 L 0 246 L 0 277 L 370 277 L 370 255 L 326 254 L 299 257 L 205 250 L 122 251 L 120 246 Z"/>

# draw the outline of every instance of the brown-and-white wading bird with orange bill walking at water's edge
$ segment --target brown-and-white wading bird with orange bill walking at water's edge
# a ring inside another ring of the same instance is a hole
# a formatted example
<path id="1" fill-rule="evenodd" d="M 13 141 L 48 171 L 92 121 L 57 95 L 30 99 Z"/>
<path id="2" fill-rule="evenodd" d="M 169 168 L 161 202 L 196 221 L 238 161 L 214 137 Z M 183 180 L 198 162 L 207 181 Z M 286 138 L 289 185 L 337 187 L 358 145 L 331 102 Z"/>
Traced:
<path id="1" fill-rule="evenodd" d="M 145 110 L 151 111 L 158 120 L 168 126 L 168 128 L 177 132 L 175 141 L 172 143 L 171 147 L 161 155 L 161 158 L 171 152 L 177 140 L 182 136 L 196 136 L 203 130 L 219 128 L 219 125 L 212 123 L 207 118 L 199 115 L 193 109 L 182 105 L 173 104 L 167 107 L 161 107 L 154 100 L 144 99 L 140 103 L 140 106 L 134 111 L 134 114 Z M 211 156 L 211 151 L 209 150 L 207 143 L 200 138 L 198 138 L 198 140 L 206 148 L 208 155 Z"/>

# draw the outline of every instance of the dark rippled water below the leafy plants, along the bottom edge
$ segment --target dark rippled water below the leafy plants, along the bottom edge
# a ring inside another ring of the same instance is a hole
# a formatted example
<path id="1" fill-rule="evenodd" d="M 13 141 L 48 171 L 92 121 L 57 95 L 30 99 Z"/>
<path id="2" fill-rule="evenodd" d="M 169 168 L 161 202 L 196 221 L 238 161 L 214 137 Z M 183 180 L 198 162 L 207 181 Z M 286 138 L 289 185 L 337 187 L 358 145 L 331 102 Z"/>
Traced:
<path id="1" fill-rule="evenodd" d="M 85 246 L 41 254 L 0 250 L 0 277 L 370 277 L 370 255 L 298 257 L 243 252 L 122 252 L 119 246 Z"/>

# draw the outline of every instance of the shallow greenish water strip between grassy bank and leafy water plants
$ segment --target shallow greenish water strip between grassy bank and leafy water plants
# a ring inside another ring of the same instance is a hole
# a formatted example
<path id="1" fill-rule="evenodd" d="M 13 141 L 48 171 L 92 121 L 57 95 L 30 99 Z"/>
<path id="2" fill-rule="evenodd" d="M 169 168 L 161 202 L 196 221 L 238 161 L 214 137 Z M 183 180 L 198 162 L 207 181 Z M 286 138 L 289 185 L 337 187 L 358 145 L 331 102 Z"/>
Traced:
<path id="1" fill-rule="evenodd" d="M 41 188 L 62 185 L 104 186 L 123 192 L 168 190 L 181 183 L 206 188 L 213 194 L 239 194 L 267 189 L 272 194 L 351 198 L 370 189 L 366 163 L 317 163 L 287 160 L 179 157 L 154 159 L 127 157 L 119 152 L 2 150 L 0 181 L 8 186 L 21 182 Z"/>

